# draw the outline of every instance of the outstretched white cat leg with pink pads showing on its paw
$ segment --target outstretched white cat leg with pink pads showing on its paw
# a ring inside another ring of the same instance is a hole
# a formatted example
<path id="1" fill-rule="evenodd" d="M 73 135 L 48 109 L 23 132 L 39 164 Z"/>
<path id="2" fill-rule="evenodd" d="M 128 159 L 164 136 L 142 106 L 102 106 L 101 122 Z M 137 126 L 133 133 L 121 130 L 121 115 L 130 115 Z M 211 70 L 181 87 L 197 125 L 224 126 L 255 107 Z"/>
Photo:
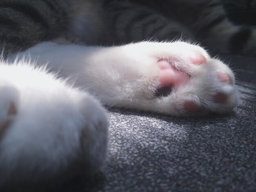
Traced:
<path id="1" fill-rule="evenodd" d="M 37 65 L 73 76 L 108 106 L 171 115 L 227 113 L 238 103 L 231 69 L 199 46 L 140 42 L 83 47 L 46 42 L 28 50 Z M 172 89 L 161 96 L 164 88 Z"/>

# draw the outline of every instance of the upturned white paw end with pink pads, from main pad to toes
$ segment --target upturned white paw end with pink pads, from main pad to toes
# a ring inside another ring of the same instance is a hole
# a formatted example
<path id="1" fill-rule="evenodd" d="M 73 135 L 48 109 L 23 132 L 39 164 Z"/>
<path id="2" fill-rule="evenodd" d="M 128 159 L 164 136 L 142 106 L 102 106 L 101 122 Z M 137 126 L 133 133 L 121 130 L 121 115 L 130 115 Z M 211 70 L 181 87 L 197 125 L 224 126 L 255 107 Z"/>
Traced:
<path id="1" fill-rule="evenodd" d="M 161 112 L 175 115 L 230 112 L 238 104 L 231 69 L 210 58 L 201 47 L 182 44 L 184 50 L 176 58 L 167 55 L 157 61 L 160 71 L 156 100 L 162 106 Z M 161 95 L 166 87 L 169 93 Z"/>

